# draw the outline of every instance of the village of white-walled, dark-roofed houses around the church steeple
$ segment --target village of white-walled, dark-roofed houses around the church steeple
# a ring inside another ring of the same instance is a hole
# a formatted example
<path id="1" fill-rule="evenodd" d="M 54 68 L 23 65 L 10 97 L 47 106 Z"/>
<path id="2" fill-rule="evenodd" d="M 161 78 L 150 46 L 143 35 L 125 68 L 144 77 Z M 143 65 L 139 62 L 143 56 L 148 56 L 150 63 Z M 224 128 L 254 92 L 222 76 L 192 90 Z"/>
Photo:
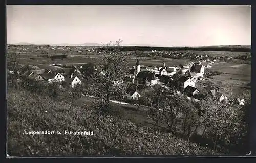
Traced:
<path id="1" fill-rule="evenodd" d="M 132 99 L 139 98 L 141 96 L 140 92 L 144 89 L 159 84 L 167 88 L 174 87 L 178 94 L 182 94 L 187 99 L 195 102 L 199 102 L 204 95 L 210 95 L 219 102 L 227 101 L 228 97 L 218 87 L 200 83 L 211 78 L 205 76 L 205 69 L 211 68 L 210 64 L 212 63 L 214 62 L 210 60 L 199 60 L 173 67 L 163 63 L 162 66 L 158 67 L 140 65 L 139 59 L 137 59 L 136 65 L 127 69 L 127 72 L 122 77 L 116 78 L 112 83 L 130 84 L 130 87 L 125 92 Z M 31 65 L 19 65 L 16 68 L 17 73 L 20 75 L 17 81 L 24 82 L 26 81 L 25 79 L 29 79 L 30 81 L 40 81 L 46 85 L 54 82 L 59 83 L 61 89 L 73 89 L 76 85 L 85 81 L 84 65 L 62 65 L 64 68 L 57 70 L 38 69 L 38 67 Z M 105 72 L 100 71 L 96 66 L 93 68 L 98 72 L 99 76 L 105 75 Z M 15 73 L 10 66 L 8 67 L 8 73 Z M 237 100 L 239 105 L 244 105 L 243 98 Z M 124 102 L 120 101 L 119 103 Z"/>

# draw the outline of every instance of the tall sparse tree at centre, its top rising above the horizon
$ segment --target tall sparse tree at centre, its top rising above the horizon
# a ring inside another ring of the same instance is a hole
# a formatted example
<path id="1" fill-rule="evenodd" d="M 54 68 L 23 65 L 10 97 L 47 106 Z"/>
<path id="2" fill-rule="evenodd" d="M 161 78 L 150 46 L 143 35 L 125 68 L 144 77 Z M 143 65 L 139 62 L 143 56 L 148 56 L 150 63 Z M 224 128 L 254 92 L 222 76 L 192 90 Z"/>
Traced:
<path id="1" fill-rule="evenodd" d="M 110 108 L 109 100 L 112 96 L 120 97 L 125 92 L 123 84 L 113 83 L 122 78 L 127 64 L 126 57 L 118 51 L 121 42 L 119 40 L 112 46 L 106 45 L 109 51 L 99 61 L 97 68 L 99 71 L 90 78 L 90 91 L 96 96 L 95 106 L 100 112 L 108 111 Z M 99 75 L 100 72 L 103 72 L 104 75 Z"/>

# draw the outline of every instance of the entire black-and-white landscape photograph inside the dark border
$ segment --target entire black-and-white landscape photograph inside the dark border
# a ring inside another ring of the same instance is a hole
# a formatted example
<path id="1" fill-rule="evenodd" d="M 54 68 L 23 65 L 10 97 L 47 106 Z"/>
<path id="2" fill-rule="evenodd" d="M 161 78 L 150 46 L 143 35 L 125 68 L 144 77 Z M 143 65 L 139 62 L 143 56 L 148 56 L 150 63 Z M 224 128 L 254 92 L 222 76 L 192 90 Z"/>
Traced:
<path id="1" fill-rule="evenodd" d="M 246 156 L 250 5 L 7 5 L 7 157 Z"/>

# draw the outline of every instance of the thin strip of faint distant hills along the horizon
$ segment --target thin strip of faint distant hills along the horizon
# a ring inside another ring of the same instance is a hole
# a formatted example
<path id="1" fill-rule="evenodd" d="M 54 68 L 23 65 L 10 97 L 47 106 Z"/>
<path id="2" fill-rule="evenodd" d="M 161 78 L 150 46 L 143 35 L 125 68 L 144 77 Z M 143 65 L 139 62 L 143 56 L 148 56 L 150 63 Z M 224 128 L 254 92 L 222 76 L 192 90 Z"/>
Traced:
<path id="1" fill-rule="evenodd" d="M 28 42 L 19 42 L 19 43 L 13 43 L 13 45 L 39 45 L 35 43 L 28 43 Z M 83 44 L 69 44 L 69 43 L 62 43 L 62 44 L 49 44 L 52 46 L 103 46 L 104 44 L 99 44 L 95 42 L 88 42 Z M 151 44 L 121 44 L 121 46 L 141 46 L 141 47 L 156 47 L 155 45 Z M 157 46 L 159 47 L 159 46 Z M 164 48 L 164 47 L 163 47 Z M 166 48 L 178 48 L 175 46 L 170 46 Z M 198 46 L 198 47 L 179 47 L 179 48 L 245 48 L 245 49 L 251 49 L 251 45 L 217 45 L 217 46 Z"/>

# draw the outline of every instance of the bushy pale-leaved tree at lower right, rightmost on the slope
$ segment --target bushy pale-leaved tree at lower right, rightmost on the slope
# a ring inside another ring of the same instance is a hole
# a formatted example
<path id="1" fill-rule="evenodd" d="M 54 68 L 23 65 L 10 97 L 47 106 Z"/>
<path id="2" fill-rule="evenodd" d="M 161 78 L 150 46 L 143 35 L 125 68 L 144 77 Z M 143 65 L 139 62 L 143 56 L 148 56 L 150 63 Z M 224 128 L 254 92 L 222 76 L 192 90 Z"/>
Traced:
<path id="1" fill-rule="evenodd" d="M 206 135 L 214 143 L 213 149 L 220 142 L 230 145 L 231 137 L 237 135 L 241 124 L 241 111 L 238 107 L 232 107 L 228 103 L 216 102 L 208 97 L 202 101 L 202 125 L 203 135 Z"/>

